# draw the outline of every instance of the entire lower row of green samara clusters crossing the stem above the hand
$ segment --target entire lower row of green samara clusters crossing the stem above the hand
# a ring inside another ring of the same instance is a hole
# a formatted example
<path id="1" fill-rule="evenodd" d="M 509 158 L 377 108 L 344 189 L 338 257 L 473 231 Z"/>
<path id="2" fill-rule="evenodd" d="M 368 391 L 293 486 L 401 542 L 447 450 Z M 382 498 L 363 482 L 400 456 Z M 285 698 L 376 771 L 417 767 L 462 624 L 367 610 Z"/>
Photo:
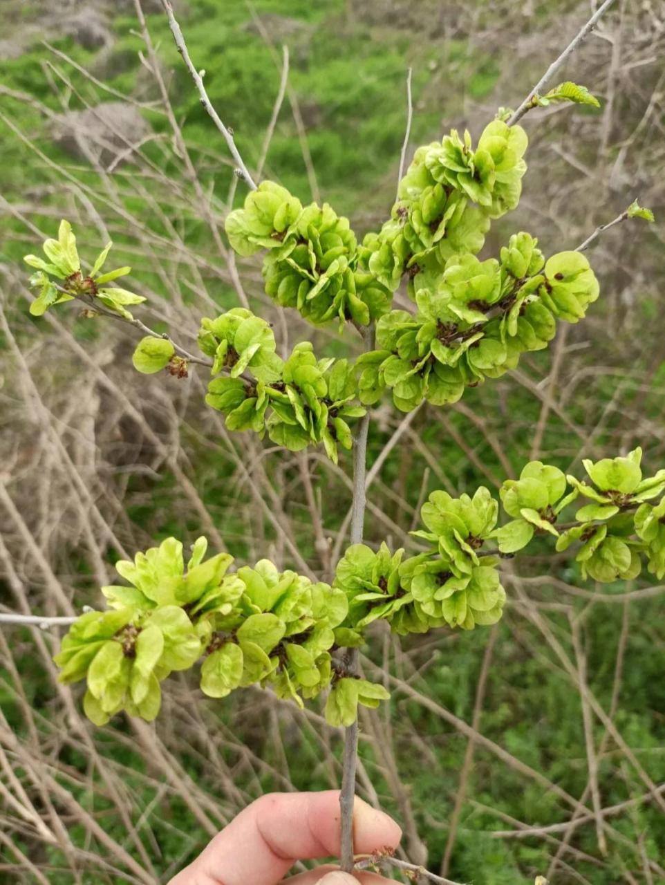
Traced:
<path id="1" fill-rule="evenodd" d="M 535 537 L 571 548 L 583 579 L 633 579 L 645 564 L 665 577 L 665 470 L 643 476 L 641 454 L 587 460 L 584 481 L 531 461 L 501 487 L 501 526 L 499 501 L 485 487 L 473 496 L 434 491 L 421 510 L 424 528 L 412 533 L 423 550 L 405 557 L 385 543 L 353 544 L 332 586 L 266 559 L 229 572 L 228 554 L 204 559 L 205 538 L 185 567 L 182 544 L 168 538 L 118 562 L 129 586 L 104 587 L 110 610 L 73 624 L 56 657 L 60 678 L 87 679 L 84 707 L 97 724 L 120 710 L 152 720 L 160 682 L 201 661 L 210 697 L 258 685 L 302 705 L 327 691 L 326 719 L 347 726 L 358 704 L 376 706 L 388 693 L 349 674 L 344 649 L 363 645 L 378 620 L 400 635 L 494 624 L 506 602 L 501 558 Z M 562 521 L 573 507 L 574 519 Z"/>

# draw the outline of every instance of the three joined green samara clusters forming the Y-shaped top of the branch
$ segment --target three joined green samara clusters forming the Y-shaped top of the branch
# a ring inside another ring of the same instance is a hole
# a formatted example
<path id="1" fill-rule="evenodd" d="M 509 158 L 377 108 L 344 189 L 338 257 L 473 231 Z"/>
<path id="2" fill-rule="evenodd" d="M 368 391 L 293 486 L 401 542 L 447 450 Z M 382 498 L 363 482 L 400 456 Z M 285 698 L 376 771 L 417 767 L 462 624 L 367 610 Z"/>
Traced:
<path id="1" fill-rule="evenodd" d="M 524 232 L 499 260 L 477 258 L 492 219 L 519 202 L 526 146 L 524 129 L 495 119 L 475 150 L 455 130 L 419 148 L 391 218 L 359 246 L 327 204 L 302 209 L 270 181 L 228 216 L 227 234 L 242 255 L 266 250 L 266 292 L 278 304 L 315 323 L 376 321 L 377 350 L 355 363 L 363 404 L 386 388 L 403 412 L 423 399 L 454 403 L 466 387 L 515 368 L 522 353 L 546 348 L 556 320 L 582 319 L 599 294 L 584 255 L 546 261 Z M 391 310 L 405 278 L 413 312 Z"/>

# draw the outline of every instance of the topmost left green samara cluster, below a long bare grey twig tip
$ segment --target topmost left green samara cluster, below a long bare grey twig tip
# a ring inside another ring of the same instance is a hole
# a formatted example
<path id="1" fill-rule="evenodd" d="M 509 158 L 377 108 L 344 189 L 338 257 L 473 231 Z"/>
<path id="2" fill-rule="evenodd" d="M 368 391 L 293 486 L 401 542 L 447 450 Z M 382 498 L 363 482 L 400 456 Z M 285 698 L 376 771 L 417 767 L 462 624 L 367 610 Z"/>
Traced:
<path id="1" fill-rule="evenodd" d="M 242 209 L 226 219 L 235 251 L 267 250 L 265 291 L 282 307 L 322 324 L 337 319 L 367 325 L 385 312 L 390 294 L 371 274 L 358 273 L 355 234 L 327 203 L 304 208 L 288 191 L 263 181 Z"/>

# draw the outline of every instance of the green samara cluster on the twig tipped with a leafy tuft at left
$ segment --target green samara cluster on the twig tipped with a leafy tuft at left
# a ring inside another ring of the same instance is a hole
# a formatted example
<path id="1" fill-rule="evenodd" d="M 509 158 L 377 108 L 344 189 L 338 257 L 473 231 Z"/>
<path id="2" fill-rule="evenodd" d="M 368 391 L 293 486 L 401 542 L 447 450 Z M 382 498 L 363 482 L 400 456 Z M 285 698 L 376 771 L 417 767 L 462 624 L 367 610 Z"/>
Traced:
<path id="1" fill-rule="evenodd" d="M 221 319 L 216 322 L 219 324 Z M 243 319 L 242 323 L 249 321 Z M 267 324 L 264 328 L 256 326 L 256 337 L 260 335 L 263 343 L 241 347 L 240 353 L 233 343 L 226 344 L 228 337 L 212 341 L 209 334 L 206 329 L 202 347 L 207 346 L 210 352 L 219 340 L 215 352 L 224 350 L 225 354 L 224 358 L 216 357 L 213 372 L 222 367 L 222 359 L 231 367 L 230 376 L 210 381 L 206 396 L 209 405 L 226 415 L 226 427 L 251 429 L 261 436 L 267 430 L 273 443 L 292 451 L 323 443 L 334 463 L 340 446 L 351 448 L 348 420 L 362 417 L 365 410 L 357 403 L 355 371 L 348 360 L 317 359 L 311 343 L 302 342 L 282 362 L 274 353 L 274 338 Z M 238 343 L 237 335 L 233 341 Z M 243 339 L 239 346 L 245 343 Z M 257 366 L 253 365 L 255 359 Z M 243 377 L 237 377 L 239 365 L 243 366 Z"/>

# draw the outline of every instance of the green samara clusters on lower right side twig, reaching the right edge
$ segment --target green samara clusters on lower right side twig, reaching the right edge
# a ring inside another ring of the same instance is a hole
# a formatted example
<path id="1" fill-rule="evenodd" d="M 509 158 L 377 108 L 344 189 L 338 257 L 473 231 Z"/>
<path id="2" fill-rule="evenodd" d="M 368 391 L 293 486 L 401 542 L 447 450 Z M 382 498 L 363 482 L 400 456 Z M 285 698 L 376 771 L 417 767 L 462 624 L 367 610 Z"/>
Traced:
<path id="1" fill-rule="evenodd" d="M 644 559 L 648 570 L 660 580 L 665 576 L 665 498 L 661 498 L 665 470 L 644 477 L 641 455 L 636 449 L 625 457 L 603 458 L 596 463 L 586 460 L 591 482 L 566 476 L 556 466 L 531 461 L 518 480 L 507 480 L 501 486 L 501 503 L 510 518 L 501 527 L 497 526 L 498 502 L 484 487 L 473 497 L 432 492 L 421 509 L 424 529 L 411 533 L 431 544 L 431 549 L 403 559 L 399 584 L 390 584 L 390 595 L 364 604 L 382 606 L 378 617 L 386 617 L 397 632 L 424 632 L 444 624 L 471 628 L 493 623 L 501 617 L 505 600 L 496 555 L 510 558 L 534 537 L 553 536 L 557 551 L 573 546 L 585 579 L 610 582 L 636 578 Z M 579 506 L 579 497 L 590 503 Z M 654 498 L 661 501 L 650 503 Z M 562 512 L 572 505 L 577 508 L 575 519 L 559 523 Z M 357 579 L 366 580 L 366 575 L 358 570 Z M 354 604 L 352 596 L 367 592 L 367 588 L 351 593 L 353 584 L 348 577 L 344 583 L 349 611 L 358 611 L 360 603 Z M 402 595 L 405 590 L 407 596 Z M 395 605 L 393 611 L 395 599 L 400 607 Z"/>

